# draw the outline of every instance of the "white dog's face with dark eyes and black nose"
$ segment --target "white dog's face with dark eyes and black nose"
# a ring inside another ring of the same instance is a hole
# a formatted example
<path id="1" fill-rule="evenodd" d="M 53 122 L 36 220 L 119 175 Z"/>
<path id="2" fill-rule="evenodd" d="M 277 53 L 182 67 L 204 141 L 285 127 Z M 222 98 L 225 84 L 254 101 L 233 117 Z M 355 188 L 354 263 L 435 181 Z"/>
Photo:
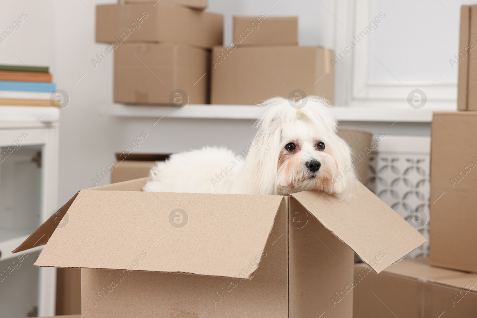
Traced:
<path id="1" fill-rule="evenodd" d="M 304 190 L 340 192 L 335 180 L 338 163 L 334 149 L 337 136 L 297 118 L 281 127 L 280 155 L 277 164 L 277 189 L 280 195 Z"/>

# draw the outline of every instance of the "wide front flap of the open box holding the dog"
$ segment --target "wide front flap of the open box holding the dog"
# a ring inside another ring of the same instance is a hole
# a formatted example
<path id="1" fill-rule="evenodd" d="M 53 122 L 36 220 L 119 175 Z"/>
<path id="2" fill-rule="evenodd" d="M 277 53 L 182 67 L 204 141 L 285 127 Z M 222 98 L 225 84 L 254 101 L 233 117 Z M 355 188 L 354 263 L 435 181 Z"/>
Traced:
<path id="1" fill-rule="evenodd" d="M 273 195 L 82 190 L 35 265 L 249 279 L 280 204 Z"/>

